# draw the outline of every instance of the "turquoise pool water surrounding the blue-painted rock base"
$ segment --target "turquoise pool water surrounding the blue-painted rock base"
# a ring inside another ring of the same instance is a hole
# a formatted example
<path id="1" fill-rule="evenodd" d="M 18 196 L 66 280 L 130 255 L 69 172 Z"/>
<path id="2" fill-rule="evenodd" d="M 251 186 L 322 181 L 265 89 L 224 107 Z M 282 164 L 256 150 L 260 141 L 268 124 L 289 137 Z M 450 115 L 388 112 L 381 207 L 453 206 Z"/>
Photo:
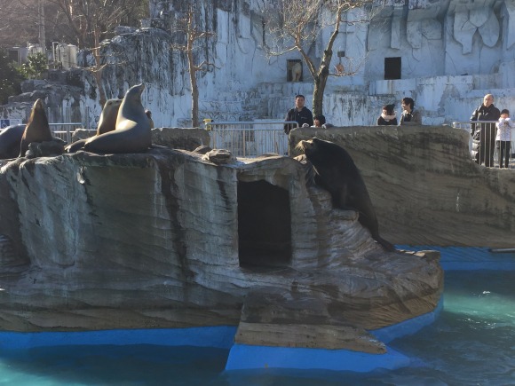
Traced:
<path id="1" fill-rule="evenodd" d="M 390 343 L 418 366 L 373 374 L 224 372 L 228 350 L 61 346 L 0 353 L 2 385 L 509 385 L 515 384 L 515 272 L 446 272 L 432 326 Z"/>

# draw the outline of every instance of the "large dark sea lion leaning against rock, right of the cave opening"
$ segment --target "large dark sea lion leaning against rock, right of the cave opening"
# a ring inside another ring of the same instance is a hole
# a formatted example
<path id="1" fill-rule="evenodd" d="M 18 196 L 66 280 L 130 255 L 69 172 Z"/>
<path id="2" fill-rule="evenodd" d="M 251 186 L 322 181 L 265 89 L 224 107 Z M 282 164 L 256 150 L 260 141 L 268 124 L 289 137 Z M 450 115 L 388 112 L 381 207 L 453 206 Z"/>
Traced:
<path id="1" fill-rule="evenodd" d="M 395 247 L 379 236 L 376 211 L 351 155 L 343 147 L 319 138 L 300 141 L 297 149 L 313 164 L 314 181 L 331 193 L 333 206 L 357 210 L 361 225 L 370 231 L 372 238 L 385 250 L 394 251 Z"/>

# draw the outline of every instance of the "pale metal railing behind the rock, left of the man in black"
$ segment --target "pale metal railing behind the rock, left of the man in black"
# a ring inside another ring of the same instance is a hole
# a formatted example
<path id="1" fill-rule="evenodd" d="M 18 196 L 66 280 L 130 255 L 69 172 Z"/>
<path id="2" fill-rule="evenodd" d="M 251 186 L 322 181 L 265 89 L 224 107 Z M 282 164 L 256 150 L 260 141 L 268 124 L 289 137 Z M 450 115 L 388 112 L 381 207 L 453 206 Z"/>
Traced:
<path id="1" fill-rule="evenodd" d="M 258 157 L 266 153 L 288 154 L 288 135 L 284 124 L 294 128 L 294 121 L 210 122 L 204 120 L 210 131 L 210 147 L 229 150 L 237 157 Z"/>

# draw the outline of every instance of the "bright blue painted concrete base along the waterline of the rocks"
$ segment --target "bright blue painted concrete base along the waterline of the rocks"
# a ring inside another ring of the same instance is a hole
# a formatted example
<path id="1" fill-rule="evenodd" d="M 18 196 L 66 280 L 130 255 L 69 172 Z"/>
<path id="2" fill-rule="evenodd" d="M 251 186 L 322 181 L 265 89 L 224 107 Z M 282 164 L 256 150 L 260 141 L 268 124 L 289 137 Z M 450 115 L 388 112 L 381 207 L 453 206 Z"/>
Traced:
<path id="1" fill-rule="evenodd" d="M 397 246 L 406 250 L 438 250 L 445 271 L 453 270 L 515 270 L 515 254 L 499 253 L 489 248 L 455 248 L 433 246 Z M 436 310 L 408 319 L 390 327 L 370 331 L 386 344 L 384 354 L 368 354 L 348 350 L 302 349 L 287 347 L 234 344 L 236 328 L 194 327 L 175 329 L 107 330 L 74 333 L 13 333 L 0 332 L 0 350 L 28 349 L 41 346 L 89 344 L 155 344 L 170 346 L 213 347 L 229 350 L 226 370 L 260 368 L 322 369 L 334 371 L 371 372 L 419 364 L 392 350 L 388 343 L 402 336 L 413 335 L 431 325 L 443 308 L 443 299 Z"/>

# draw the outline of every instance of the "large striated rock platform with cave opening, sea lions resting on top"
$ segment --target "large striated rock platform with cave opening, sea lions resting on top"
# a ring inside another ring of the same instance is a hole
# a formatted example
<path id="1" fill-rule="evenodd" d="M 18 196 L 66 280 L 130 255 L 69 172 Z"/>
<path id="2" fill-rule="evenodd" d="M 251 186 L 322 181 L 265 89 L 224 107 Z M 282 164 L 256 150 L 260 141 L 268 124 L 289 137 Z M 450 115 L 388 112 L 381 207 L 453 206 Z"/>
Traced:
<path id="1" fill-rule="evenodd" d="M 307 175 L 166 148 L 4 163 L 0 327 L 241 322 L 240 343 L 384 352 L 365 329 L 433 311 L 439 255 L 384 252 Z"/>

